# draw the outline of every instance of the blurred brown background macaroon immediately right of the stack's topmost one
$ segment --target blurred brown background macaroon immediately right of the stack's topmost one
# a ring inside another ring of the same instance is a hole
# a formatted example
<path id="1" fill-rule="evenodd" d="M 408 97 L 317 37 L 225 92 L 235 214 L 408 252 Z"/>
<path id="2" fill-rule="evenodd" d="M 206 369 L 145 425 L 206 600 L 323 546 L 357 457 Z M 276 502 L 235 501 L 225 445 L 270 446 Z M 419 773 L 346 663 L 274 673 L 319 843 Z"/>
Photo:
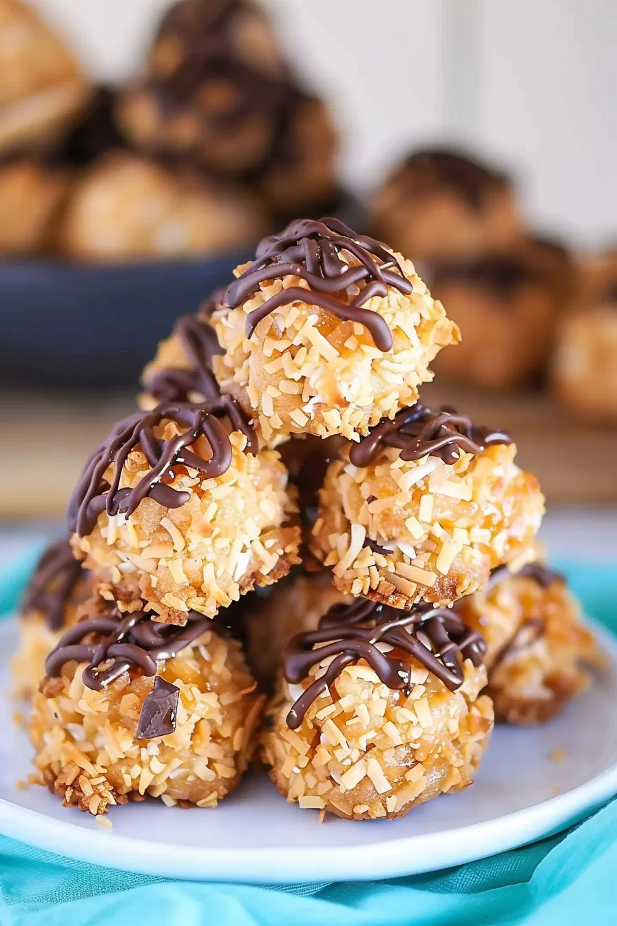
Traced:
<path id="1" fill-rule="evenodd" d="M 463 342 L 436 358 L 436 375 L 504 388 L 545 369 L 557 319 L 572 296 L 571 263 L 562 252 L 560 277 L 559 259 L 548 245 L 529 243 L 508 254 L 437 261 L 431 290 L 461 328 Z"/>

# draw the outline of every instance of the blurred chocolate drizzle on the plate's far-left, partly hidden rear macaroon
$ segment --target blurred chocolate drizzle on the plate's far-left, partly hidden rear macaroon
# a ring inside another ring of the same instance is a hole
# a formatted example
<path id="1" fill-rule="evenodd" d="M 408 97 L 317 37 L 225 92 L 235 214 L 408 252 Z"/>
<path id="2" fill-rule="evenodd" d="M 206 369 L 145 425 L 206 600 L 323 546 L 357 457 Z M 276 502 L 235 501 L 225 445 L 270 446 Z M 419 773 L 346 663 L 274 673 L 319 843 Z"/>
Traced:
<path id="1" fill-rule="evenodd" d="M 49 629 L 58 630 L 64 623 L 68 601 L 83 575 L 84 570 L 73 556 L 68 537 L 57 540 L 39 559 L 24 594 L 21 610 L 24 613 L 42 611 Z"/>

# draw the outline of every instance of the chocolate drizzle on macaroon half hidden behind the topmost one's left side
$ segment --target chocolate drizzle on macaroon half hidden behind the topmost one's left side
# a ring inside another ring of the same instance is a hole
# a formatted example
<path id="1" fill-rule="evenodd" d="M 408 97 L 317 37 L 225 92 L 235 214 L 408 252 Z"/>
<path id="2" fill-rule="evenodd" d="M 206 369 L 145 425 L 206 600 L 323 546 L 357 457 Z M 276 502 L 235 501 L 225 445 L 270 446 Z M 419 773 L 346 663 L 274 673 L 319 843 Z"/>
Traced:
<path id="1" fill-rule="evenodd" d="M 176 322 L 172 337 L 177 338 L 189 361 L 189 367 L 157 369 L 145 381 L 157 402 L 190 402 L 195 393 L 211 402 L 220 398 L 220 389 L 212 371 L 212 358 L 222 353 L 216 333 L 207 322 L 216 305 L 216 295 L 200 315 L 182 315 Z"/>

